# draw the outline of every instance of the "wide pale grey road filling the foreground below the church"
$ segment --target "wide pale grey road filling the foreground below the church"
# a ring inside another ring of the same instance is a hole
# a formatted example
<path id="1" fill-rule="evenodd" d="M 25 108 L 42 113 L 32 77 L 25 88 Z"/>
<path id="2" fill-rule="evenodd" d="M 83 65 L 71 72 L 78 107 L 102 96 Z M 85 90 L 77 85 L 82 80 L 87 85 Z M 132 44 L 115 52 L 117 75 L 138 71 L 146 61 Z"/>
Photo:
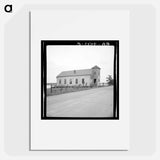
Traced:
<path id="1" fill-rule="evenodd" d="M 112 117 L 113 87 L 47 97 L 49 117 Z"/>

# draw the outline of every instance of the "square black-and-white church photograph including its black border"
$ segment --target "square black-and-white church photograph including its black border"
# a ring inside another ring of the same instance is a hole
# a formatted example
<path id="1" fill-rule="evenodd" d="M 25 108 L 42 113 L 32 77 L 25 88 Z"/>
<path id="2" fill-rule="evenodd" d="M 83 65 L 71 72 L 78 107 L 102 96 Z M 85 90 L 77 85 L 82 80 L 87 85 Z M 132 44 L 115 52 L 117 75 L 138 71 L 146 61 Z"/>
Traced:
<path id="1" fill-rule="evenodd" d="M 41 41 L 41 119 L 119 119 L 119 41 Z"/>

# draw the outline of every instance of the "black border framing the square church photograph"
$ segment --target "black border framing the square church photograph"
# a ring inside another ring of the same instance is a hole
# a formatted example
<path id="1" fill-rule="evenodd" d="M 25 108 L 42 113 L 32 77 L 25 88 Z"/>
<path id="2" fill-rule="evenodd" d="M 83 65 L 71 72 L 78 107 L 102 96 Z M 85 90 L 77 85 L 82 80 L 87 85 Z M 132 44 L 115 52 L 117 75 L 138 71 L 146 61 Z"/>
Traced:
<path id="1" fill-rule="evenodd" d="M 114 46 L 113 117 L 47 117 L 47 46 Z M 41 120 L 119 120 L 119 40 L 41 40 Z"/>

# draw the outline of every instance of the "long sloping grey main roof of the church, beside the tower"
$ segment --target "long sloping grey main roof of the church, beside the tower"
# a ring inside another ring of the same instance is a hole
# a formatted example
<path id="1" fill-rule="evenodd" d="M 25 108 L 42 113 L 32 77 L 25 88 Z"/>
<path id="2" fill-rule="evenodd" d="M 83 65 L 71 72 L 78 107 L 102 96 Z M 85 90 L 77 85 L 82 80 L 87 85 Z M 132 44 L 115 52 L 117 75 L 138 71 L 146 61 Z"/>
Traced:
<path id="1" fill-rule="evenodd" d="M 84 76 L 84 75 L 91 75 L 92 69 L 81 69 L 81 70 L 71 70 L 71 71 L 63 71 L 61 72 L 58 77 L 69 77 L 69 76 Z"/>

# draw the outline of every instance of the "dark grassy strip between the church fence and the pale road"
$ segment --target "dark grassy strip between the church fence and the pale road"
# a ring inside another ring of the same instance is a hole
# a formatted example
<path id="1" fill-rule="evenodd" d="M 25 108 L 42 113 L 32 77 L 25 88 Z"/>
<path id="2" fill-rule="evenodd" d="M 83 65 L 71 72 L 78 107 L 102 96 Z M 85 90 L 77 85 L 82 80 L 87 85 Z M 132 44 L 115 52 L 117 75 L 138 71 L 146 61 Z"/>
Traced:
<path id="1" fill-rule="evenodd" d="M 47 89 L 47 96 L 59 95 L 64 93 L 70 92 L 77 92 L 83 90 L 89 90 L 95 87 L 61 87 L 61 88 L 48 88 Z"/>

